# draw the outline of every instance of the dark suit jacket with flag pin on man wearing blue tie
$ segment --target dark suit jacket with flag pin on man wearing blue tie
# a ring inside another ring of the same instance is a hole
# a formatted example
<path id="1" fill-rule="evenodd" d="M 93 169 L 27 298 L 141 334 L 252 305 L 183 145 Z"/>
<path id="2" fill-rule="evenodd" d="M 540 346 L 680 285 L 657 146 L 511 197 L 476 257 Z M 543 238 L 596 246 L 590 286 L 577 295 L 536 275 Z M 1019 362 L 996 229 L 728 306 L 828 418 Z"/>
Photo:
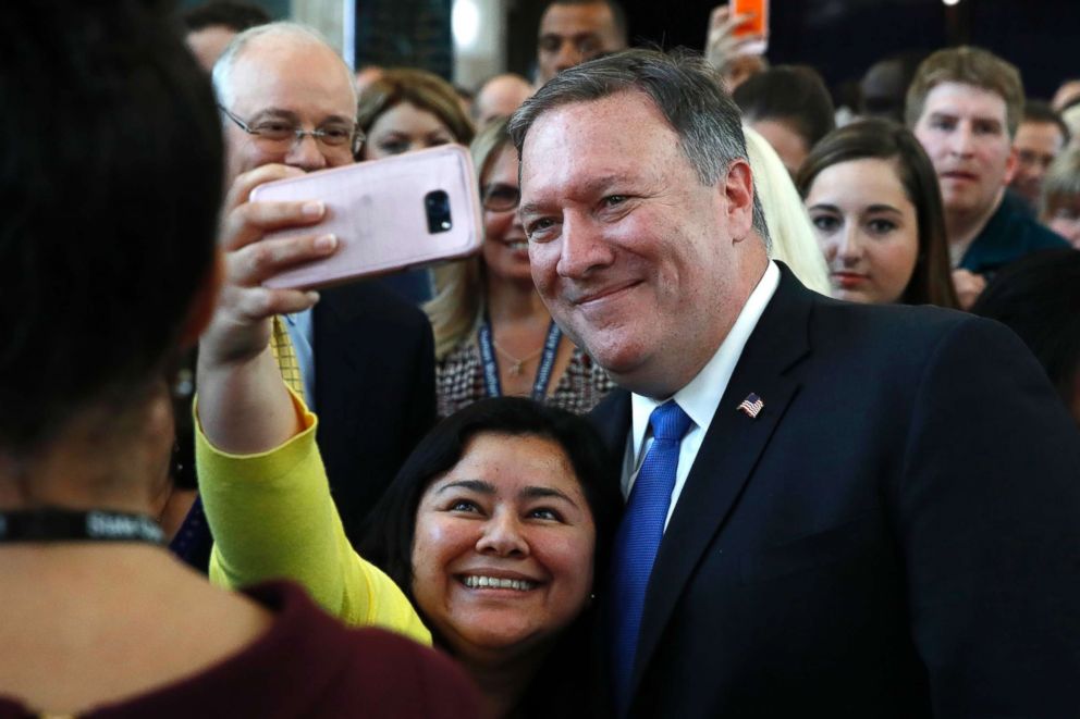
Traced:
<path id="1" fill-rule="evenodd" d="M 629 395 L 592 417 L 623 451 Z M 1019 339 L 784 269 L 664 534 L 634 677 L 634 717 L 1080 716 L 1080 435 Z"/>

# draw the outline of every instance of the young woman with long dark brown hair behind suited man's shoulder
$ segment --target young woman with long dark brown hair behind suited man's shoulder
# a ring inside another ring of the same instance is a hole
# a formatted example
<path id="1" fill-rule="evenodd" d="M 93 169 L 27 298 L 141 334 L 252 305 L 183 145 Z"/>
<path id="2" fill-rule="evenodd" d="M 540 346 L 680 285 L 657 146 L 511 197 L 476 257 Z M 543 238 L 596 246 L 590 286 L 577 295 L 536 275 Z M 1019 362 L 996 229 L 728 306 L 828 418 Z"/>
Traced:
<path id="1" fill-rule="evenodd" d="M 833 297 L 957 307 L 934 166 L 903 125 L 863 120 L 824 137 L 797 178 Z"/>

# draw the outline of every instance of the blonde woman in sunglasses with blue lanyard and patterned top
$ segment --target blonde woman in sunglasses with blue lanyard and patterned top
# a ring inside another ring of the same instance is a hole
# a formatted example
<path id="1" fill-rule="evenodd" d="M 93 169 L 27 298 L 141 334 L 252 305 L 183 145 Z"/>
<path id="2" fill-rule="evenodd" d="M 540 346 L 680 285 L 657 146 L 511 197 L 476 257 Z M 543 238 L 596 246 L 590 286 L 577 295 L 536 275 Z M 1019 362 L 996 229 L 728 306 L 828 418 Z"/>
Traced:
<path id="1" fill-rule="evenodd" d="M 425 306 L 435 333 L 438 412 L 446 417 L 483 397 L 526 396 L 575 413 L 614 387 L 608 373 L 564 337 L 543 306 L 517 216 L 517 151 L 506 120 L 472 142 L 483 203 L 479 257 L 438 268 Z"/>

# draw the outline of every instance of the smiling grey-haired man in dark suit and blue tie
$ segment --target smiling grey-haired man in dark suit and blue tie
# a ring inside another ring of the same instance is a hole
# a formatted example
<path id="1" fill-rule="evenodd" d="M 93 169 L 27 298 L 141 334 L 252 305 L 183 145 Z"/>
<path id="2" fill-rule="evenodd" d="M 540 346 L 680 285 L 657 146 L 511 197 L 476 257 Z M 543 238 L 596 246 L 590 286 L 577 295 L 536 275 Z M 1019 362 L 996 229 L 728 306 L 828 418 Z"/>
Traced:
<path id="1" fill-rule="evenodd" d="M 999 325 L 769 260 L 738 111 L 630 51 L 515 115 L 533 278 L 627 392 L 621 716 L 1075 716 L 1080 436 Z"/>

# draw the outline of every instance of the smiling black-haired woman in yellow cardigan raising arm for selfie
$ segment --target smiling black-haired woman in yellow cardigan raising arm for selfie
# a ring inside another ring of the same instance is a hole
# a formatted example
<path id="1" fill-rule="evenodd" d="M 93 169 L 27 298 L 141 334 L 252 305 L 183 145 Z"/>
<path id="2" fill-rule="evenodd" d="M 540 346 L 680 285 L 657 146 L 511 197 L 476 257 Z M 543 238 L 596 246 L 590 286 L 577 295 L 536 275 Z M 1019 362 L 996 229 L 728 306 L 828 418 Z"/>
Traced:
<path id="1" fill-rule="evenodd" d="M 282 172 L 260 169 L 238 184 Z M 547 716 L 551 702 L 533 692 L 565 692 L 560 705 L 581 706 L 594 666 L 582 623 L 622 504 L 617 463 L 584 419 L 524 398 L 476 404 L 420 443 L 376 508 L 365 546 L 383 571 L 358 556 L 329 492 L 317 421 L 268 347 L 270 317 L 317 296 L 261 286 L 332 244 L 261 238 L 247 219 L 292 203 L 245 202 L 249 189 L 232 195 L 226 285 L 199 343 L 196 454 L 217 540 L 211 577 L 232 586 L 285 577 L 347 623 L 434 640 L 481 687 L 489 716 Z M 290 215 L 296 226 L 317 220 L 298 207 Z"/>

